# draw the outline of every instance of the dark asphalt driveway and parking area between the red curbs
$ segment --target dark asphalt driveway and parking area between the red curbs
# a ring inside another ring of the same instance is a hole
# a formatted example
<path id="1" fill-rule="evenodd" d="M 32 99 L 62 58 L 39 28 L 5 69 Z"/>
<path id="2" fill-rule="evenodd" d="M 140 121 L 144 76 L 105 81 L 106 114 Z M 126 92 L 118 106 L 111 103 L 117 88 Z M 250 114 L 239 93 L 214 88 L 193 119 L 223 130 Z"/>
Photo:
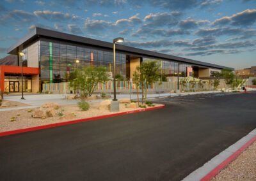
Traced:
<path id="1" fill-rule="evenodd" d="M 1 137 L 1 180 L 181 180 L 256 127 L 255 92 L 151 100 L 166 106 Z"/>

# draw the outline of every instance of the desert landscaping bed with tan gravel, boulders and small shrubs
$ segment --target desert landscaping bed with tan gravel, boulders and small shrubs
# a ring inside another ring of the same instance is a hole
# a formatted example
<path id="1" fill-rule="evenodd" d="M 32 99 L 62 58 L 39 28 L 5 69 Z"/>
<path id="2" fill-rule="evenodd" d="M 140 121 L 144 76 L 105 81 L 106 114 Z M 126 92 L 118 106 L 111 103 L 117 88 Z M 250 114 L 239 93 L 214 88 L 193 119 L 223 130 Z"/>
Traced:
<path id="1" fill-rule="evenodd" d="M 66 98 L 72 99 L 72 98 Z M 69 120 L 86 119 L 89 117 L 97 117 L 100 115 L 109 115 L 116 112 L 110 112 L 110 99 L 104 99 L 99 102 L 92 102 L 86 99 L 81 102 L 88 105 L 88 110 L 82 110 L 79 104 L 75 105 L 58 105 L 57 103 L 49 102 L 44 103 L 40 108 L 31 108 L 19 110 L 8 110 L 1 112 L 1 124 L 0 132 L 12 131 L 15 129 L 23 129 L 28 127 L 43 126 L 47 124 L 53 124 L 57 122 L 66 122 Z M 9 101 L 10 102 L 10 101 Z M 3 102 L 4 103 L 4 102 Z M 12 101 L 12 104 L 8 103 L 8 108 L 13 106 L 29 106 L 26 104 Z M 129 112 L 133 110 L 144 109 L 149 106 L 161 106 L 161 105 L 144 105 L 139 107 L 138 103 L 131 102 L 130 99 L 120 99 L 120 112 Z M 4 107 L 4 108 L 6 108 Z"/>

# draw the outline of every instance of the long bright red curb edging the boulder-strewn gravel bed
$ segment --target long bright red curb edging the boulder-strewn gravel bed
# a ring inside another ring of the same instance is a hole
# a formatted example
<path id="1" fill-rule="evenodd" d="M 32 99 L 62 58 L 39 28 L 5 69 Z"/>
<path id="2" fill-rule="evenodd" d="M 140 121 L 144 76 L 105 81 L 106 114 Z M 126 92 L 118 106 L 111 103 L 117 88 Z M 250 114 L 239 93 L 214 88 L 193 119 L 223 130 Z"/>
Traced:
<path id="1" fill-rule="evenodd" d="M 66 121 L 66 122 L 57 122 L 57 123 L 47 124 L 47 125 L 43 125 L 43 126 L 28 127 L 28 128 L 16 129 L 16 130 L 12 130 L 12 131 L 4 131 L 4 132 L 0 133 L 0 137 L 1 136 L 12 135 L 12 134 L 25 133 L 25 132 L 29 132 L 29 131 L 36 131 L 36 130 L 40 130 L 40 129 L 47 129 L 47 128 L 50 128 L 50 127 L 58 127 L 58 126 L 64 126 L 64 125 L 68 125 L 68 124 L 76 124 L 77 122 L 86 122 L 86 121 L 90 121 L 90 120 L 97 120 L 97 119 L 104 119 L 104 118 L 108 118 L 108 117 L 115 117 L 115 116 L 118 116 L 118 115 L 145 112 L 145 111 L 149 111 L 149 110 L 157 110 L 157 109 L 160 109 L 160 108 L 164 108 L 164 105 L 151 107 L 151 108 L 143 108 L 143 109 L 140 109 L 140 110 L 134 110 L 134 111 L 129 111 L 129 112 L 113 113 L 113 114 L 108 114 L 108 115 L 100 115 L 100 116 L 97 116 L 97 117 L 88 117 L 88 118 L 84 118 L 84 119 L 70 120 L 70 121 Z"/>

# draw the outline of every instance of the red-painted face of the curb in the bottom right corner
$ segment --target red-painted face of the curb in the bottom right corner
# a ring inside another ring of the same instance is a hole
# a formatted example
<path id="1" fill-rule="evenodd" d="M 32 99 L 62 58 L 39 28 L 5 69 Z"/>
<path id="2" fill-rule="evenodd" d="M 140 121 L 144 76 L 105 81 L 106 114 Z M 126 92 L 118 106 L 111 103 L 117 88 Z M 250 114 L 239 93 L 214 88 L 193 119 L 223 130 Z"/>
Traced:
<path id="1" fill-rule="evenodd" d="M 236 159 L 237 156 L 239 156 L 247 147 L 252 145 L 252 143 L 256 141 L 256 136 L 253 136 L 251 140 L 249 140 L 247 143 L 245 143 L 241 148 L 239 148 L 234 154 L 232 154 L 230 157 L 225 159 L 221 164 L 216 166 L 212 171 L 210 171 L 207 175 L 205 175 L 204 178 L 202 178 L 200 181 L 208 181 L 211 180 L 211 178 L 215 177 L 223 168 L 225 168 L 230 162 L 232 162 L 234 159 Z"/>

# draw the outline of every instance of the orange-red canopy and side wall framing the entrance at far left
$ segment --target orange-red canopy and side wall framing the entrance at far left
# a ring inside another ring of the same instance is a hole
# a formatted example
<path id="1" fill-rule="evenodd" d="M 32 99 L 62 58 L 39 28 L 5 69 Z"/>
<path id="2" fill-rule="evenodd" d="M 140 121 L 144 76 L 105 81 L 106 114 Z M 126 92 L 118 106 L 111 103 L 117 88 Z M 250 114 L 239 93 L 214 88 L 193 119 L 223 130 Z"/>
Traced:
<path id="1" fill-rule="evenodd" d="M 4 73 L 10 73 L 15 75 L 21 75 L 20 66 L 0 66 L 0 90 L 4 92 Z M 39 68 L 23 67 L 24 75 L 38 75 L 40 73 Z"/>

